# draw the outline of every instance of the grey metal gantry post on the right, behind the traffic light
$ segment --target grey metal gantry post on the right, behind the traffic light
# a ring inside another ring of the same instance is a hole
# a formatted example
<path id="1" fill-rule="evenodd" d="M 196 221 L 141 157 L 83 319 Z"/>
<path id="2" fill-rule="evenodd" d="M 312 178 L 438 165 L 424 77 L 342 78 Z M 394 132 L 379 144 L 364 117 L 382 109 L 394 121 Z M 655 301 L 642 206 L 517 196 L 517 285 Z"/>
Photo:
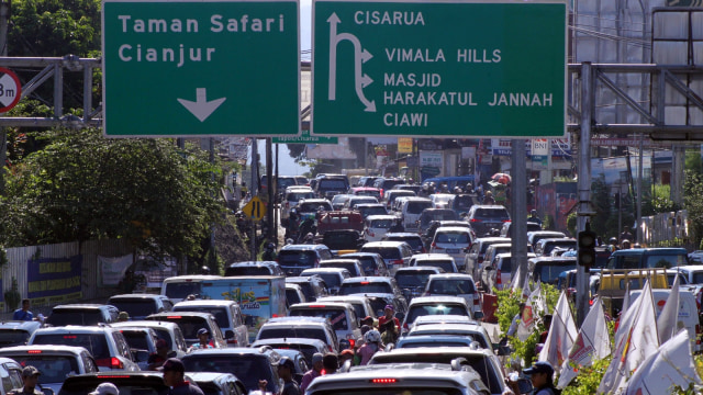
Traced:
<path id="1" fill-rule="evenodd" d="M 579 206 L 578 232 L 585 229 L 591 215 L 591 122 L 593 111 L 593 92 L 591 91 L 591 63 L 581 64 L 581 134 L 579 138 Z M 579 257 L 579 261 L 581 257 Z M 577 266 L 576 278 L 576 323 L 580 328 L 589 313 L 589 276 L 588 268 Z"/>

